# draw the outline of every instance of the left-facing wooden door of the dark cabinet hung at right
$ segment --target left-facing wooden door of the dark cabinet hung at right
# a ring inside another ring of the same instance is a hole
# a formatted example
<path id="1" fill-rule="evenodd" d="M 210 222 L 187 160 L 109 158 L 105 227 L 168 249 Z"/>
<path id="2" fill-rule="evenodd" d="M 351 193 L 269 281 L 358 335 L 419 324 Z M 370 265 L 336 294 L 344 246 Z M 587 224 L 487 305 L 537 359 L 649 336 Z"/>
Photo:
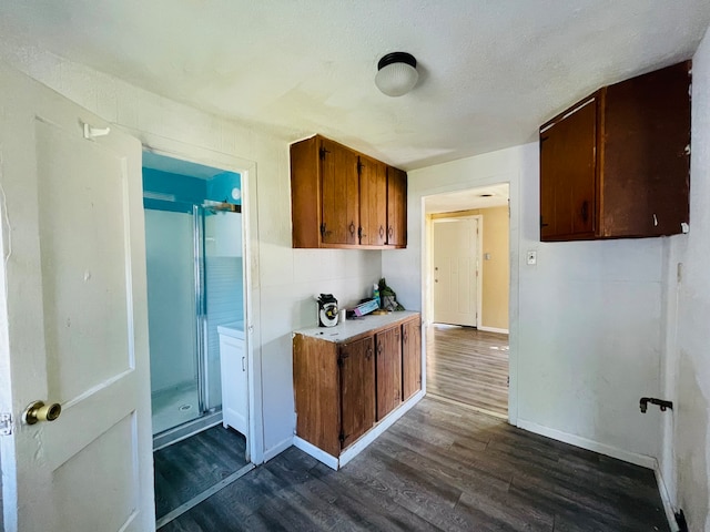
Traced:
<path id="1" fill-rule="evenodd" d="M 594 238 L 597 98 L 540 130 L 540 239 Z"/>

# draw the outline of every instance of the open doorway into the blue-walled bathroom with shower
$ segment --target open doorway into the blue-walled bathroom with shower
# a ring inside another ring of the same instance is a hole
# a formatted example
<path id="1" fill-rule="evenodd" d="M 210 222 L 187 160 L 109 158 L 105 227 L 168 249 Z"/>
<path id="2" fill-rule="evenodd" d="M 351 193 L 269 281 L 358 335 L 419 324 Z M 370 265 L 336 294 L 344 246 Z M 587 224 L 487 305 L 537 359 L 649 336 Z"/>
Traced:
<path id="1" fill-rule="evenodd" d="M 143 153 L 158 526 L 252 468 L 241 178 Z"/>

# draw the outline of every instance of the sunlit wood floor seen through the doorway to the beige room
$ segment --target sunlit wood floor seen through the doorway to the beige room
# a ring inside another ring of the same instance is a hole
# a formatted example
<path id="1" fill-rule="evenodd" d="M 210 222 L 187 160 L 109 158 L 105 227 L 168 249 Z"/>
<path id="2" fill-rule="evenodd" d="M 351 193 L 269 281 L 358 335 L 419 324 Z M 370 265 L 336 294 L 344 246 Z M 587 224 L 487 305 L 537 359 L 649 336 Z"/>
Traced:
<path id="1" fill-rule="evenodd" d="M 508 335 L 473 327 L 427 329 L 428 393 L 508 417 Z"/>

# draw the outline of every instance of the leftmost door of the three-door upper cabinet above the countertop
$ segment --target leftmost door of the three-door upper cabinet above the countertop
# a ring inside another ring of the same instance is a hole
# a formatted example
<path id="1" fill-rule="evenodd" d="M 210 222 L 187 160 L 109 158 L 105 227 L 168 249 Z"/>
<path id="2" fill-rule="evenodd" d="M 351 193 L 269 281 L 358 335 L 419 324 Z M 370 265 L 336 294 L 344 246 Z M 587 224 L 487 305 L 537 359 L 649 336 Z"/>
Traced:
<path id="1" fill-rule="evenodd" d="M 321 140 L 321 241 L 358 244 L 359 185 L 357 154 L 327 139 Z"/>

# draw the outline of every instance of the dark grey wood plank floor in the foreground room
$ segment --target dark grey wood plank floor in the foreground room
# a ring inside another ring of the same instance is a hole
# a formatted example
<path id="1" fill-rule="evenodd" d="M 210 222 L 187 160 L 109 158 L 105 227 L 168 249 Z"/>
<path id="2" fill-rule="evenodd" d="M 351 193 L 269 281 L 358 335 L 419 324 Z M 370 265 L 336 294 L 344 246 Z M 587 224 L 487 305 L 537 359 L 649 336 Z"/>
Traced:
<path id="1" fill-rule="evenodd" d="M 425 398 L 341 471 L 296 448 L 161 532 L 667 531 L 653 472 Z"/>

